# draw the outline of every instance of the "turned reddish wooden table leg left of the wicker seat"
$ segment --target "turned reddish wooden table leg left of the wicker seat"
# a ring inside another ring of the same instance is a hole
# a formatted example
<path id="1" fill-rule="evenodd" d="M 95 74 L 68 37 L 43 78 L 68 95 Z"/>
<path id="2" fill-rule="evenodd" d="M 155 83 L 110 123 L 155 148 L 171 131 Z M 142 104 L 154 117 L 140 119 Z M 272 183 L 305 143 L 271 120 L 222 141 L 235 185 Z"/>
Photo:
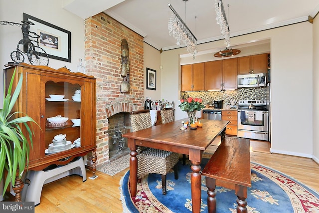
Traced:
<path id="1" fill-rule="evenodd" d="M 135 197 L 138 184 L 138 158 L 136 157 L 138 153 L 131 149 L 130 155 L 130 192 L 131 197 Z"/>

